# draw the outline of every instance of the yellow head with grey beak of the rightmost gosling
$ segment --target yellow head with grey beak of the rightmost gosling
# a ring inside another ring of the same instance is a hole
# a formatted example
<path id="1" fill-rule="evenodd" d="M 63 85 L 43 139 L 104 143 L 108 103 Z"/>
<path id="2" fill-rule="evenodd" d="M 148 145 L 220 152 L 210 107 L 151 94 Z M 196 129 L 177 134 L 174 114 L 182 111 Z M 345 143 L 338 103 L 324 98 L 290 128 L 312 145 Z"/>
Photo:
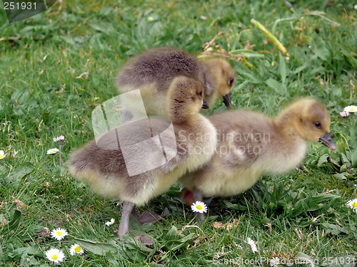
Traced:
<path id="1" fill-rule="evenodd" d="M 283 124 L 292 122 L 294 131 L 304 140 L 319 141 L 331 150 L 336 150 L 336 145 L 329 134 L 330 115 L 316 100 L 311 98 L 298 100 L 286 108 L 278 120 Z"/>

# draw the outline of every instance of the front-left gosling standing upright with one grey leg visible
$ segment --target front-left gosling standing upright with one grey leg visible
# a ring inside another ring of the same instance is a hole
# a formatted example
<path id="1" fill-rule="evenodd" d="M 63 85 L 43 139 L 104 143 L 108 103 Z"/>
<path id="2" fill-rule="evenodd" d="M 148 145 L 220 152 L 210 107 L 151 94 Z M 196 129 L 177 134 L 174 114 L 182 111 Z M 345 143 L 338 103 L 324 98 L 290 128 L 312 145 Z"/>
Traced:
<path id="1" fill-rule="evenodd" d="M 129 217 L 134 206 L 144 205 L 166 192 L 183 174 L 206 164 L 216 150 L 216 129 L 199 113 L 201 108 L 207 108 L 200 81 L 185 76 L 174 78 L 166 101 L 169 120 L 149 117 L 122 125 L 99 142 L 92 140 L 76 150 L 69 159 L 69 172 L 76 179 L 88 182 L 97 194 L 123 201 L 118 236 L 129 234 Z M 164 134 L 171 122 L 174 138 Z M 154 142 L 156 149 L 146 142 L 137 144 L 137 140 L 150 137 L 159 137 Z M 123 142 L 129 150 L 124 150 Z M 148 151 L 149 156 L 141 155 Z M 129 159 L 125 153 L 129 153 Z M 161 166 L 136 172 L 143 166 L 156 164 L 163 154 L 169 160 Z M 134 174 L 130 174 L 133 170 Z"/>

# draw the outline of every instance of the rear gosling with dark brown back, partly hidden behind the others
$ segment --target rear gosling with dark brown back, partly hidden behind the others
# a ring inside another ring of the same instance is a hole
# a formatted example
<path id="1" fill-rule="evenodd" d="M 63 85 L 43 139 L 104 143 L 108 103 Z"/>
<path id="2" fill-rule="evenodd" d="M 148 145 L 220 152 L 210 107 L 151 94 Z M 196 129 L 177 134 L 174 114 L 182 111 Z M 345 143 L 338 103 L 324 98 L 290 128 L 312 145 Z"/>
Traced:
<path id="1" fill-rule="evenodd" d="M 227 108 L 232 106 L 231 90 L 236 75 L 231 65 L 218 57 L 198 61 L 174 48 L 153 48 L 132 58 L 119 71 L 116 85 L 119 93 L 139 89 L 148 115 L 166 115 L 161 103 L 166 102 L 167 90 L 176 75 L 200 80 L 204 86 L 203 98 L 209 106 L 217 98 L 221 98 Z M 125 108 L 135 117 L 135 104 Z"/>

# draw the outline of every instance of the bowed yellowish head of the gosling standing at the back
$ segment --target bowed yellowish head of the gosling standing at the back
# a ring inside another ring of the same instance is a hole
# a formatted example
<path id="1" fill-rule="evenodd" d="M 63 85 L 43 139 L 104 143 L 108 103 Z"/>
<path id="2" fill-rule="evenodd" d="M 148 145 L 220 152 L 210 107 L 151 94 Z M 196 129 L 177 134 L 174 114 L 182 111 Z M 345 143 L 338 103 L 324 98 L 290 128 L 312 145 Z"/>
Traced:
<path id="1" fill-rule="evenodd" d="M 212 96 L 206 96 L 205 94 L 206 100 L 211 104 L 218 97 L 223 100 L 227 108 L 232 108 L 231 91 L 236 81 L 236 73 L 231 64 L 223 58 L 209 58 L 203 61 L 203 64 L 208 67 L 216 85 L 216 95 L 213 93 Z"/>

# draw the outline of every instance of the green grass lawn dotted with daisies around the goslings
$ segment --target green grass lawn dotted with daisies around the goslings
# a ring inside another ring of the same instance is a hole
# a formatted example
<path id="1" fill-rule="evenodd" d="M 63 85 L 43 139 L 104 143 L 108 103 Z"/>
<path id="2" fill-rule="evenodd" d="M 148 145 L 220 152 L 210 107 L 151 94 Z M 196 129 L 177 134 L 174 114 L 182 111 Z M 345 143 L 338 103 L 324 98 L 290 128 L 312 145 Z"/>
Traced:
<path id="1" fill-rule="evenodd" d="M 357 197 L 357 117 L 339 112 L 357 105 L 356 11 L 350 1 L 327 2 L 291 1 L 291 10 L 283 1 L 58 1 L 12 24 L 1 9 L 0 266 L 48 266 L 44 253 L 52 247 L 66 254 L 61 266 L 270 266 L 274 257 L 299 266 L 354 266 L 357 215 L 346 202 Z M 251 19 L 285 46 L 288 61 Z M 305 170 L 263 177 L 236 197 L 206 199 L 211 216 L 202 225 L 176 185 L 148 204 L 166 219 L 131 221 L 154 246 L 119 241 L 120 204 L 93 194 L 46 150 L 65 135 L 66 161 L 94 137 L 91 110 L 117 94 L 114 77 L 128 58 L 154 46 L 200 53 L 219 32 L 215 43 L 231 53 L 236 69 L 239 108 L 275 115 L 312 95 L 331 114 L 338 150 L 311 145 Z M 116 223 L 106 226 L 111 218 Z M 63 241 L 46 233 L 57 227 L 69 231 Z M 86 249 L 83 256 L 69 255 L 74 243 Z"/>

